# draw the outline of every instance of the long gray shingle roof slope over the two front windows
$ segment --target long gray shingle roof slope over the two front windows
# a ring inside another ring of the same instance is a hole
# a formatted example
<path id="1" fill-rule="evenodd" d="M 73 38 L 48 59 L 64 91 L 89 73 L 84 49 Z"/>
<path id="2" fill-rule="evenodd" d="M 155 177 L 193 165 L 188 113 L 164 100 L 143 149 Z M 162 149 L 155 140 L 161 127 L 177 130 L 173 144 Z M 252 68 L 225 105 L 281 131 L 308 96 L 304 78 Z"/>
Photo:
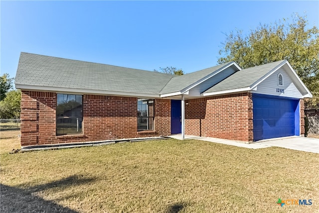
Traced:
<path id="1" fill-rule="evenodd" d="M 172 75 L 22 52 L 15 84 L 159 94 Z"/>

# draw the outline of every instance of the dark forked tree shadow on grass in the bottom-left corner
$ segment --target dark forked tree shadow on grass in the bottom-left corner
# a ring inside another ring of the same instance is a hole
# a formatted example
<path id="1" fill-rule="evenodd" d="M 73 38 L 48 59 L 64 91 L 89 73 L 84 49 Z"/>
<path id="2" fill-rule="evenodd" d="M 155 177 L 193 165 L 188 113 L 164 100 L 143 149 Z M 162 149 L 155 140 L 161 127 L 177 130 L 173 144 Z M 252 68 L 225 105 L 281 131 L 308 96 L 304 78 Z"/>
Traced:
<path id="1" fill-rule="evenodd" d="M 0 184 L 0 212 L 2 213 L 77 213 L 67 207 L 60 206 L 53 201 L 46 201 L 32 193 L 50 188 L 81 185 L 94 181 L 94 179 L 70 176 L 65 179 L 48 184 L 37 185 L 28 189 L 10 187 Z"/>

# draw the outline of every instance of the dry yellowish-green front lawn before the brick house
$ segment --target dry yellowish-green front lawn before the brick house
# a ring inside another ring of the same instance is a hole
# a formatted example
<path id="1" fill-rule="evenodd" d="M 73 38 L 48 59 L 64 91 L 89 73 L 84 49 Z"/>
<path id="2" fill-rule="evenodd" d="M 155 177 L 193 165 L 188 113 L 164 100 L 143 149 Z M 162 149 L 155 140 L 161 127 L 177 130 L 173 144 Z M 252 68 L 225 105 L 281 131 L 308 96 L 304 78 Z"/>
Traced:
<path id="1" fill-rule="evenodd" d="M 319 211 L 315 153 L 169 139 L 8 154 L 17 144 L 0 143 L 1 212 Z"/>

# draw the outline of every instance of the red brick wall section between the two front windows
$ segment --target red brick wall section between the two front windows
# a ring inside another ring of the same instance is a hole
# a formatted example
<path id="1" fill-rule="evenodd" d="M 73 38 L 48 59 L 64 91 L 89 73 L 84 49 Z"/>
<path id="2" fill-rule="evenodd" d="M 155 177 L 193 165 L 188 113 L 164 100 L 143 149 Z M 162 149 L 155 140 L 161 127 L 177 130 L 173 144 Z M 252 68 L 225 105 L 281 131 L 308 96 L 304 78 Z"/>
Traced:
<path id="1" fill-rule="evenodd" d="M 91 140 L 135 137 L 137 98 L 83 95 L 83 133 Z"/>

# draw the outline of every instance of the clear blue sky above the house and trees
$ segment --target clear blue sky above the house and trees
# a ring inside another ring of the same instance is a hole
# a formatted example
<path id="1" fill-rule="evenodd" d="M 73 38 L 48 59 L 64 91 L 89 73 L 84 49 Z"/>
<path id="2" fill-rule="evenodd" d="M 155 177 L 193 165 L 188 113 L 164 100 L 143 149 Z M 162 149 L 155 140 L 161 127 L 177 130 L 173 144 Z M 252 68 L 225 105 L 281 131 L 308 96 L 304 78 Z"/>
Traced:
<path id="1" fill-rule="evenodd" d="M 185 73 L 217 64 L 236 28 L 307 15 L 319 1 L 0 1 L 1 74 L 15 76 L 20 52 L 137 69 Z"/>

